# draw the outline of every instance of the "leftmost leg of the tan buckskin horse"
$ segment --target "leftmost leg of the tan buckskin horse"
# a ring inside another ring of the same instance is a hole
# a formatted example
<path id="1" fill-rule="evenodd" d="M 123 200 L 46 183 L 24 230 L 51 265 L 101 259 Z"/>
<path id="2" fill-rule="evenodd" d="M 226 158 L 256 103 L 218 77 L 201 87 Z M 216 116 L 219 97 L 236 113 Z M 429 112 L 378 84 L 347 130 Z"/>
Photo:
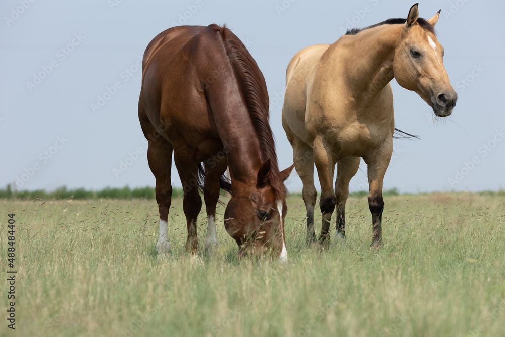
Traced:
<path id="1" fill-rule="evenodd" d="M 292 142 L 293 161 L 296 173 L 303 183 L 302 196 L 307 211 L 307 244 L 316 242 L 314 231 L 314 206 L 316 205 L 317 191 L 314 186 L 314 151 L 301 139 L 296 138 Z"/>

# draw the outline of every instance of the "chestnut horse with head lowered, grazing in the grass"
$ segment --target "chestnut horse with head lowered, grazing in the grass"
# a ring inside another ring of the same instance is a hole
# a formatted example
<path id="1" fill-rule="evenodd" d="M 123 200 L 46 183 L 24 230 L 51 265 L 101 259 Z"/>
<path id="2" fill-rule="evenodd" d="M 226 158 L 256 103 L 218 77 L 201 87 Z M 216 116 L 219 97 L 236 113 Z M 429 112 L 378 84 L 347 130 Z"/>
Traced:
<path id="1" fill-rule="evenodd" d="M 216 245 L 221 187 L 231 192 L 224 222 L 240 248 L 239 256 L 270 251 L 280 260 L 287 258 L 283 180 L 292 167 L 279 171 L 268 104 L 263 74 L 228 28 L 179 26 L 148 44 L 138 117 L 148 141 L 149 168 L 156 178 L 160 255 L 170 250 L 173 153 L 184 189 L 187 251 L 194 255 L 198 248 L 198 187 L 207 211 L 205 248 L 210 251 Z M 223 177 L 227 166 L 231 185 Z"/>

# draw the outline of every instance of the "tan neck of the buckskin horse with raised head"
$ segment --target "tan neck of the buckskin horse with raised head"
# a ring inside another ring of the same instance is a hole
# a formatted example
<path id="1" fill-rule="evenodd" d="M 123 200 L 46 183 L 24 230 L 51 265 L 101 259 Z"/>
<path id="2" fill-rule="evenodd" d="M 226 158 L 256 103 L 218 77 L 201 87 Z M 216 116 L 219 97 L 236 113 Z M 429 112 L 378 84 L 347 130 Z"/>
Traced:
<path id="1" fill-rule="evenodd" d="M 394 78 L 394 53 L 402 29 L 400 24 L 378 26 L 349 38 L 353 57 L 346 65 L 348 82 L 365 104 L 373 103 Z"/>

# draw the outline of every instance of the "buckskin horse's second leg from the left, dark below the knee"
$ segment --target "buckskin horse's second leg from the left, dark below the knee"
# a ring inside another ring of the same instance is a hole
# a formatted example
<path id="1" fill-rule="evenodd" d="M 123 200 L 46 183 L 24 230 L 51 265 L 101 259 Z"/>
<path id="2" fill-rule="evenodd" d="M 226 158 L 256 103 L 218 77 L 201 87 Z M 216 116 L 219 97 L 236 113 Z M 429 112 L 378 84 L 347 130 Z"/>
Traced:
<path id="1" fill-rule="evenodd" d="M 335 162 L 333 160 L 333 150 L 331 145 L 321 136 L 314 139 L 314 162 L 316 164 L 319 182 L 321 183 L 321 199 L 319 208 L 323 215 L 321 223 L 321 235 L 319 243 L 326 246 L 330 242 L 331 215 L 335 210 L 336 196 L 333 190 L 333 175 L 335 172 Z"/>

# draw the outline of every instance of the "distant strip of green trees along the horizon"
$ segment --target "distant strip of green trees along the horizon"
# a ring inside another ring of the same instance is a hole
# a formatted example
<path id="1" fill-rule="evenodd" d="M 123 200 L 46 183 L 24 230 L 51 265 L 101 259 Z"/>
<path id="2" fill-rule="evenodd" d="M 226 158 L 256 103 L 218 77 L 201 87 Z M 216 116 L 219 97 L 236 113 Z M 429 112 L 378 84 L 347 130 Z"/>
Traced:
<path id="1" fill-rule="evenodd" d="M 225 194 L 226 192 L 222 192 Z M 482 191 L 480 195 L 505 196 L 504 190 L 499 191 Z M 297 195 L 297 193 L 292 193 Z M 301 196 L 301 193 L 299 194 Z M 384 196 L 398 196 L 400 192 L 397 188 L 391 188 L 383 191 Z M 172 192 L 173 198 L 182 198 L 184 191 L 182 188 L 174 188 Z M 349 193 L 351 198 L 364 198 L 368 196 L 368 191 L 357 191 Z M 156 199 L 155 188 L 135 187 L 130 188 L 125 186 L 122 188 L 106 187 L 101 190 L 87 190 L 85 188 L 67 189 L 66 186 L 58 187 L 53 191 L 47 192 L 44 189 L 29 190 L 13 190 L 11 185 L 0 189 L 0 199 L 19 199 L 19 200 L 91 200 L 91 199 Z"/>

